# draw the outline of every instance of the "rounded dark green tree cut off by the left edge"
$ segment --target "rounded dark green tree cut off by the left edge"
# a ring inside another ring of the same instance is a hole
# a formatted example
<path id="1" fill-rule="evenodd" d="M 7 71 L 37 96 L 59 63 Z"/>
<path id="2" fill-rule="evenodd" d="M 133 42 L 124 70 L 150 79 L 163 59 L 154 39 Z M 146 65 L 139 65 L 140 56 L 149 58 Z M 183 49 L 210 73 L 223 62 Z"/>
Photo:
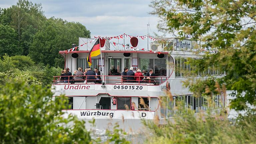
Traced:
<path id="1" fill-rule="evenodd" d="M 17 34 L 10 26 L 0 24 L 0 57 L 4 54 L 10 56 L 19 55 L 21 51 L 18 49 Z"/>

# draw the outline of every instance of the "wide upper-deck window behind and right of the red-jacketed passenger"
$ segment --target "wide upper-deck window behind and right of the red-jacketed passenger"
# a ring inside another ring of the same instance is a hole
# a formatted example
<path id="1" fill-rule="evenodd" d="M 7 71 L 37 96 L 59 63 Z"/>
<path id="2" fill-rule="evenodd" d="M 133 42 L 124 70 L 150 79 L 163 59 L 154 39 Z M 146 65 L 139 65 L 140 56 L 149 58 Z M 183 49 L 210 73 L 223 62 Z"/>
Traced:
<path id="1" fill-rule="evenodd" d="M 149 72 L 150 69 L 154 70 L 156 76 L 166 76 L 166 59 L 140 59 L 141 70 Z"/>

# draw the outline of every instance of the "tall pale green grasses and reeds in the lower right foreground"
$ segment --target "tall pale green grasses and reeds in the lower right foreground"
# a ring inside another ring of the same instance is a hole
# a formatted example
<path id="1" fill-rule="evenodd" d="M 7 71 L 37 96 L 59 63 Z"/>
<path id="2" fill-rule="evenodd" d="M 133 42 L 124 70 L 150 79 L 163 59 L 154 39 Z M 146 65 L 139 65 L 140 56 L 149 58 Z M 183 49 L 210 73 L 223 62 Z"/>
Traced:
<path id="1" fill-rule="evenodd" d="M 163 102 L 165 103 L 165 102 Z M 240 118 L 240 121 L 231 122 L 225 117 L 220 118 L 219 114 L 208 111 L 199 113 L 196 116 L 194 111 L 187 109 L 184 111 L 184 102 L 179 102 L 174 110 L 181 111 L 182 117 L 172 120 L 163 120 L 162 125 L 158 125 L 158 117 L 154 121 L 143 121 L 149 129 L 149 133 L 154 133 L 147 137 L 146 143 L 168 143 L 168 144 L 218 144 L 234 143 L 246 144 L 254 143 L 256 132 L 255 112 L 248 113 L 248 116 Z M 186 115 L 185 115 L 186 114 Z"/>

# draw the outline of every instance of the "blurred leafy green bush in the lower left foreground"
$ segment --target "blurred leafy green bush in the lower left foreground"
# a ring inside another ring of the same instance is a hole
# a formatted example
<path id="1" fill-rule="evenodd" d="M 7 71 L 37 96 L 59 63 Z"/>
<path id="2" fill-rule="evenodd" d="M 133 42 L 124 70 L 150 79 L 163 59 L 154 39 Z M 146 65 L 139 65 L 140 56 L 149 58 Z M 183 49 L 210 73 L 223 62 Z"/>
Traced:
<path id="1" fill-rule="evenodd" d="M 22 81 L 0 87 L 1 143 L 92 143 L 83 121 L 61 116 L 64 96 L 54 100 L 49 88 Z"/>

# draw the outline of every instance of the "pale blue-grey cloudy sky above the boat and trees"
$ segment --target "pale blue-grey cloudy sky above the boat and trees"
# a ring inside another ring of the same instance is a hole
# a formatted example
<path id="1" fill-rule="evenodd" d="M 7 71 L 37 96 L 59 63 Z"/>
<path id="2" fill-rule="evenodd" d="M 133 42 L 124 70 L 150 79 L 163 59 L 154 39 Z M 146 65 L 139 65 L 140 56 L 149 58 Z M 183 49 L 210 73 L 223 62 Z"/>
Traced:
<path id="1" fill-rule="evenodd" d="M 41 3 L 47 18 L 52 16 L 80 22 L 94 36 L 116 36 L 123 33 L 149 35 L 159 33 L 158 18 L 149 14 L 150 0 L 31 0 Z M 15 5 L 17 0 L 0 0 L 0 7 Z"/>

